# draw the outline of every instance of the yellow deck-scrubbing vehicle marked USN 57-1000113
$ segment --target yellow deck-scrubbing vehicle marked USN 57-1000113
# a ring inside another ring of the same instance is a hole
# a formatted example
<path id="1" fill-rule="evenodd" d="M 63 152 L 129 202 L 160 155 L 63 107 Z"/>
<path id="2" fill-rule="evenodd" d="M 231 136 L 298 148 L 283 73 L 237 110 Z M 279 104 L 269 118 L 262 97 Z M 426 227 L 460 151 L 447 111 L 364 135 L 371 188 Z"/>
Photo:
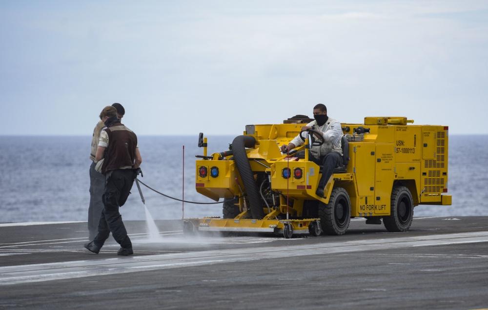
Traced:
<path id="1" fill-rule="evenodd" d="M 184 232 L 342 235 L 352 217 L 364 217 L 366 224 L 383 219 L 388 231 L 407 231 L 415 206 L 451 205 L 447 126 L 412 125 L 406 117 L 342 124 L 343 162 L 321 198 L 315 194 L 321 168 L 307 151 L 320 142 L 301 133 L 310 121 L 297 115 L 284 124 L 246 125 L 229 150 L 210 156 L 201 133 L 196 190 L 215 201 L 224 199 L 223 218 L 185 219 Z M 298 134 L 305 143 L 283 154 L 280 145 Z"/>

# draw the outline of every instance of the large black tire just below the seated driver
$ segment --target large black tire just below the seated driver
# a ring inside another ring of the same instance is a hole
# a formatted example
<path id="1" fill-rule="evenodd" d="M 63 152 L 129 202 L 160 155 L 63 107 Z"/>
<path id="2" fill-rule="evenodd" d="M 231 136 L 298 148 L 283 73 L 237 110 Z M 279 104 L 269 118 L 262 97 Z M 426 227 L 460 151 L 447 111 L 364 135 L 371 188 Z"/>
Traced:
<path id="1" fill-rule="evenodd" d="M 344 235 L 351 222 L 351 200 L 346 189 L 336 187 L 328 204 L 319 203 L 319 218 L 324 234 Z"/>

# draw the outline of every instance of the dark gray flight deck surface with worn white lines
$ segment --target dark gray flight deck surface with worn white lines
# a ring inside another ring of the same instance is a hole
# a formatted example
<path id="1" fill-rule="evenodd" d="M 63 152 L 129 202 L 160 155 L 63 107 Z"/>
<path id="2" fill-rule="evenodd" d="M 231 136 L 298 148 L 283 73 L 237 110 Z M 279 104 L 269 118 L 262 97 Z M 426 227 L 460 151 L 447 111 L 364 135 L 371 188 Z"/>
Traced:
<path id="1" fill-rule="evenodd" d="M 285 239 L 184 238 L 181 221 L 157 221 L 158 241 L 127 222 L 131 257 L 112 239 L 98 255 L 85 250 L 86 223 L 0 224 L 0 309 L 245 309 L 283 296 L 305 309 L 488 306 L 488 217 L 415 218 L 406 233 L 364 222 L 344 236 Z"/>

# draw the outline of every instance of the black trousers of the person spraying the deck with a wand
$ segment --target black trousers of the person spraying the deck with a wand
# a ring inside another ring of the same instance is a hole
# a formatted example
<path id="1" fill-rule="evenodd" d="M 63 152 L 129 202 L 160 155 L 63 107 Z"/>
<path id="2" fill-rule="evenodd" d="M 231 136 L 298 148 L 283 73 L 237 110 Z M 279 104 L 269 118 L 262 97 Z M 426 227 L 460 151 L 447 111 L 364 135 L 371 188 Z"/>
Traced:
<path id="1" fill-rule="evenodd" d="M 132 169 L 118 169 L 107 172 L 103 194 L 104 207 L 98 225 L 98 234 L 93 240 L 97 246 L 102 247 L 112 232 L 115 241 L 122 248 L 132 247 L 130 238 L 127 236 L 127 230 L 125 230 L 122 222 L 119 207 L 122 207 L 129 197 L 135 178 L 136 173 Z"/>

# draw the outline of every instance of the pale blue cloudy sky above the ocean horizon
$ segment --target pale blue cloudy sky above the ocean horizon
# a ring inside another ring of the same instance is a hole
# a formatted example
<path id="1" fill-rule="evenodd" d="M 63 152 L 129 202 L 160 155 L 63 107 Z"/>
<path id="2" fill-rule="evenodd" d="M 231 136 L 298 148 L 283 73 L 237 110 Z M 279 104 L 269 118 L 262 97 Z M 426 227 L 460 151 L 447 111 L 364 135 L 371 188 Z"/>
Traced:
<path id="1" fill-rule="evenodd" d="M 488 134 L 488 1 L 0 1 L 0 135 L 242 134 L 312 115 Z"/>

